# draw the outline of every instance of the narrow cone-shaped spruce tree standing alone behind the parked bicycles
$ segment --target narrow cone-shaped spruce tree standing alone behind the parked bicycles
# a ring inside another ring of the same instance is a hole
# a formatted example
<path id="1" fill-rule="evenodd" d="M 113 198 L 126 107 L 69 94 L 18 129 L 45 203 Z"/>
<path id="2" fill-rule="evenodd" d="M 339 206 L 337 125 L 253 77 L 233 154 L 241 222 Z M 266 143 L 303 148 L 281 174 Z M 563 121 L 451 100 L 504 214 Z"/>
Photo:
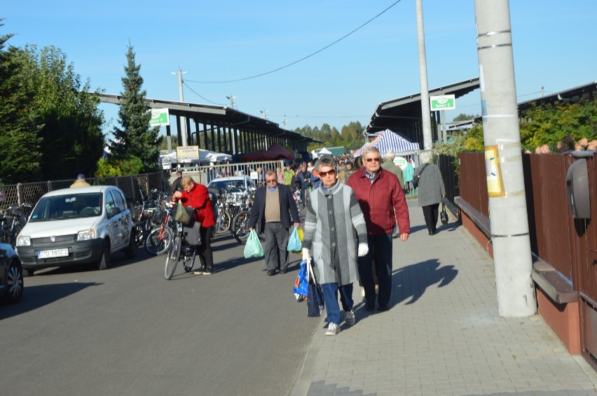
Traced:
<path id="1" fill-rule="evenodd" d="M 121 127 L 114 127 L 111 153 L 118 160 L 137 157 L 143 163 L 143 171 L 156 171 L 162 136 L 158 134 L 158 127 L 149 127 L 151 113 L 144 100 L 146 91 L 142 89 L 141 65 L 135 63 L 135 52 L 131 45 L 128 46 L 126 59 L 125 77 L 122 78 L 124 90 L 118 110 Z"/>

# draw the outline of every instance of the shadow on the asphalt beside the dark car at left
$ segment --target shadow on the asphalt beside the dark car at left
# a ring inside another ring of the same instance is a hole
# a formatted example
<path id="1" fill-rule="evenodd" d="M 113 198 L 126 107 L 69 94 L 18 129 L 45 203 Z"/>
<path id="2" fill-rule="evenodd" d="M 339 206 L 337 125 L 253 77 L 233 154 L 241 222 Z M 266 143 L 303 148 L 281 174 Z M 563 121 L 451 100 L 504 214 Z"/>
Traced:
<path id="1" fill-rule="evenodd" d="M 17 316 L 21 313 L 33 311 L 42 306 L 52 304 L 53 302 L 73 295 L 76 292 L 90 286 L 102 285 L 102 283 L 56 283 L 53 285 L 25 286 L 23 297 L 16 304 L 0 307 L 0 320 Z"/>

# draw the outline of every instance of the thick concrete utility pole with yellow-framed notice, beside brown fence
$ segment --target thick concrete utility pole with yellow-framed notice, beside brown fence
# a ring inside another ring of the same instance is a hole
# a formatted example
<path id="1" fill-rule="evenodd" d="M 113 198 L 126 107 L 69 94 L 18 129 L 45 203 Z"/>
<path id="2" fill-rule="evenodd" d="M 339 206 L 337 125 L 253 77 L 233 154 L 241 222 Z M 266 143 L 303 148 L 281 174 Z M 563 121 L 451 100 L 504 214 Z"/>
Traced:
<path id="1" fill-rule="evenodd" d="M 508 0 L 475 0 L 497 311 L 535 313 Z"/>

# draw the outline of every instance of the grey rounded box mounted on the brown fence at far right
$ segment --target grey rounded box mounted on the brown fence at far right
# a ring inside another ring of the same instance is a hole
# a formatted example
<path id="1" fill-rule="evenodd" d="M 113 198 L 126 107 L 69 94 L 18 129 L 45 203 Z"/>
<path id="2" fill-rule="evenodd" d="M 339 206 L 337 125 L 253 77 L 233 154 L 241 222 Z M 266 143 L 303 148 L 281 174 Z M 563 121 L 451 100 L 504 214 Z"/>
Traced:
<path id="1" fill-rule="evenodd" d="M 573 218 L 591 218 L 589 172 L 586 160 L 576 160 L 566 174 L 566 198 Z"/>

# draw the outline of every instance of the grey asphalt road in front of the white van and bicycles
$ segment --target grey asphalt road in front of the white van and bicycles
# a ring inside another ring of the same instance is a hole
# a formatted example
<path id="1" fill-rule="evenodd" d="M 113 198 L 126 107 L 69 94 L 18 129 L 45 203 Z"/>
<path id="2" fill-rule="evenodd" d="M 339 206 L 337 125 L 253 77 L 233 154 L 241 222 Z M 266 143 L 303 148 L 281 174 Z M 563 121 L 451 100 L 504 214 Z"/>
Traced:
<path id="1" fill-rule="evenodd" d="M 4 395 L 288 395 L 319 318 L 288 274 L 266 276 L 229 234 L 214 241 L 216 274 L 163 276 L 143 249 L 111 269 L 47 269 L 0 306 Z M 195 264 L 196 266 L 197 264 Z"/>

